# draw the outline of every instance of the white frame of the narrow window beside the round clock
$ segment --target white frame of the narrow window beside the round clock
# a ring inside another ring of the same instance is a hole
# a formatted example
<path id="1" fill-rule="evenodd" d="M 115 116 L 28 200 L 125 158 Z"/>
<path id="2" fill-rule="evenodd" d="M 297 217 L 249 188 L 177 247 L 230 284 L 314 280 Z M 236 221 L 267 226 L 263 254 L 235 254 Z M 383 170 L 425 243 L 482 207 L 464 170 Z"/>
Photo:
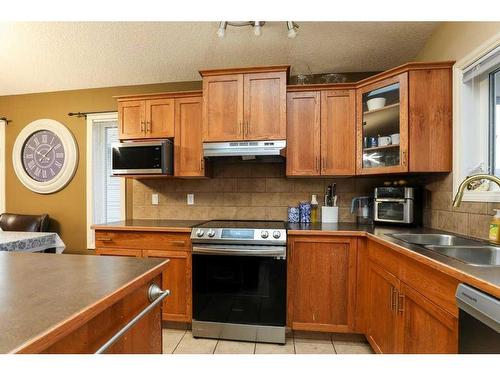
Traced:
<path id="1" fill-rule="evenodd" d="M 117 112 L 104 112 L 87 115 L 87 248 L 95 249 L 95 231 L 90 227 L 94 218 L 94 178 L 93 178 L 93 139 L 95 122 L 117 122 Z M 126 218 L 125 178 L 120 181 L 121 190 L 121 220 Z"/>

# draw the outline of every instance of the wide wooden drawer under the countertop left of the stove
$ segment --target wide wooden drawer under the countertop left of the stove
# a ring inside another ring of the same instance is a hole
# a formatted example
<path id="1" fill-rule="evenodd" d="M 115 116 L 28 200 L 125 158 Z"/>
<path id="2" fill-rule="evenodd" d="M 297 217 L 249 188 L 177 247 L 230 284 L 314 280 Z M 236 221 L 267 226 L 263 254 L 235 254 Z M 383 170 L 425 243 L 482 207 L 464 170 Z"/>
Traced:
<path id="1" fill-rule="evenodd" d="M 132 248 L 191 251 L 188 233 L 96 231 L 96 248 Z"/>

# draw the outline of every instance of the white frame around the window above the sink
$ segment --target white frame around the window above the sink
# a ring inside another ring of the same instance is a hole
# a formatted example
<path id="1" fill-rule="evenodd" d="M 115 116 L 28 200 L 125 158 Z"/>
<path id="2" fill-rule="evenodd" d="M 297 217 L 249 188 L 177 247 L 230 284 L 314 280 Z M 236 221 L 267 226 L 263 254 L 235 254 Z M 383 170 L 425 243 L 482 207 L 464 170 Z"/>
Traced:
<path id="1" fill-rule="evenodd" d="M 464 124 L 461 121 L 463 70 L 498 46 L 500 46 L 500 33 L 497 33 L 453 66 L 453 195 L 457 193 L 458 186 L 467 177 L 463 172 L 460 157 L 465 148 L 462 144 Z M 467 202 L 500 202 L 500 191 L 466 190 L 462 200 Z"/>

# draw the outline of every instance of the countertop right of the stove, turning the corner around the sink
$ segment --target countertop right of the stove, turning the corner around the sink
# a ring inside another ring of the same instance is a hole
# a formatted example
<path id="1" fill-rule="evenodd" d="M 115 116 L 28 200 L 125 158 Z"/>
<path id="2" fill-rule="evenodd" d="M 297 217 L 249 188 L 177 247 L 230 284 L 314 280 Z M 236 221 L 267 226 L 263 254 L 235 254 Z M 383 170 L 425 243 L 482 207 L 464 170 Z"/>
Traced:
<path id="1" fill-rule="evenodd" d="M 337 236 L 366 236 L 393 250 L 399 251 L 418 261 L 445 272 L 450 276 L 475 286 L 487 293 L 500 298 L 500 267 L 473 266 L 454 258 L 439 254 L 423 246 L 413 245 L 391 237 L 394 233 L 435 233 L 450 234 L 470 238 L 478 241 L 478 245 L 491 245 L 488 241 L 471 238 L 456 233 L 449 233 L 431 228 L 408 228 L 395 226 L 359 225 L 356 223 L 314 223 L 295 224 L 287 223 L 289 235 L 337 235 Z M 493 244 L 495 245 L 495 244 Z M 495 245 L 498 246 L 498 245 Z"/>

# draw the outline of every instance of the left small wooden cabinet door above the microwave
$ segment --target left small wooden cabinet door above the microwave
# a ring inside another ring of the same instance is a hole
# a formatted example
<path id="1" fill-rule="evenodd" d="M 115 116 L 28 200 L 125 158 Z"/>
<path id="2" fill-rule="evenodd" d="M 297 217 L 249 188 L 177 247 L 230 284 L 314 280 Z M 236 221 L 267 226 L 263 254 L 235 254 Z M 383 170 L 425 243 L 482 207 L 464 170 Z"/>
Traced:
<path id="1" fill-rule="evenodd" d="M 144 138 L 146 130 L 145 101 L 119 102 L 118 123 L 120 139 Z"/>

